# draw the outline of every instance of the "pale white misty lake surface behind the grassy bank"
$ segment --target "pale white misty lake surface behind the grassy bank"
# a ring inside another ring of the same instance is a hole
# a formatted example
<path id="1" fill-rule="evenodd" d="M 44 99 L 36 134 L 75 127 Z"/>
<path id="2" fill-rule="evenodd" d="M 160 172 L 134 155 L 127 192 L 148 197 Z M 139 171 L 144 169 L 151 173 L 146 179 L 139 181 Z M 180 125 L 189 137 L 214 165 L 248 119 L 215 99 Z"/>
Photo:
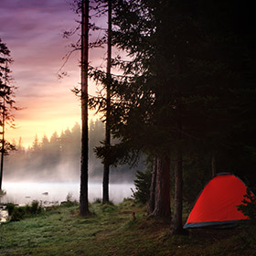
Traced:
<path id="1" fill-rule="evenodd" d="M 131 197 L 134 185 L 131 184 L 110 184 L 110 199 L 113 203 L 120 203 L 124 197 Z M 5 197 L 0 198 L 2 203 L 29 204 L 33 200 L 42 202 L 65 201 L 68 194 L 79 201 L 80 183 L 5 183 L 3 189 Z M 101 198 L 101 183 L 89 184 L 89 201 Z"/>

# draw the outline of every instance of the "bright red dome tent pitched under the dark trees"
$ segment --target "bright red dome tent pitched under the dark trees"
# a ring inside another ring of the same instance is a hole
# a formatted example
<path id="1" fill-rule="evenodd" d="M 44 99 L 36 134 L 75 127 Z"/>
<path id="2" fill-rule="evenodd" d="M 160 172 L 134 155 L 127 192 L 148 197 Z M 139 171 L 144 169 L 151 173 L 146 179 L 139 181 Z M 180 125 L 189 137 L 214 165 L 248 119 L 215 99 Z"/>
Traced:
<path id="1" fill-rule="evenodd" d="M 247 187 L 228 173 L 214 176 L 192 208 L 184 229 L 226 225 L 248 219 L 238 209 Z"/>

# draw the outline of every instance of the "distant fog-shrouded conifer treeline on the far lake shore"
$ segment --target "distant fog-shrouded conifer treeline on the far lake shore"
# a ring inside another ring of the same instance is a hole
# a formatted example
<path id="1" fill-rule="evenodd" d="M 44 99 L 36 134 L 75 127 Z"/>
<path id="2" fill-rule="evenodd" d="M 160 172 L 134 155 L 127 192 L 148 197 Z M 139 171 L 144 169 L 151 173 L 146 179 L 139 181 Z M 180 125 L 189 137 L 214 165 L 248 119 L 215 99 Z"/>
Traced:
<path id="1" fill-rule="evenodd" d="M 103 166 L 93 153 L 104 137 L 101 121 L 90 123 L 89 176 L 91 181 L 101 182 Z M 5 181 L 79 181 L 80 180 L 80 124 L 62 133 L 36 135 L 33 144 L 27 149 L 22 139 L 16 144 L 16 151 L 5 158 Z M 133 181 L 134 170 L 128 165 L 112 168 L 111 181 Z"/>

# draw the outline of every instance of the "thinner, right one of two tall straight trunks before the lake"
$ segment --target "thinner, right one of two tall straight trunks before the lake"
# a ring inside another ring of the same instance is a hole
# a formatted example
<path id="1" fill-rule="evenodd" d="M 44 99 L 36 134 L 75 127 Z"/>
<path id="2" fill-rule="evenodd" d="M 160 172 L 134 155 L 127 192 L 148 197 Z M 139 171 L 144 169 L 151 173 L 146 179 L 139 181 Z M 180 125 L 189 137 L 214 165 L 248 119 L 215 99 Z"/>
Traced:
<path id="1" fill-rule="evenodd" d="M 112 67 L 112 0 L 108 1 L 108 59 L 107 59 L 107 109 L 106 109 L 106 131 L 105 131 L 105 146 L 107 152 L 111 147 L 111 129 L 110 129 L 110 112 L 111 112 L 111 67 Z M 109 176 L 110 176 L 110 164 L 108 155 L 104 161 L 103 170 L 103 195 L 102 203 L 109 202 Z"/>

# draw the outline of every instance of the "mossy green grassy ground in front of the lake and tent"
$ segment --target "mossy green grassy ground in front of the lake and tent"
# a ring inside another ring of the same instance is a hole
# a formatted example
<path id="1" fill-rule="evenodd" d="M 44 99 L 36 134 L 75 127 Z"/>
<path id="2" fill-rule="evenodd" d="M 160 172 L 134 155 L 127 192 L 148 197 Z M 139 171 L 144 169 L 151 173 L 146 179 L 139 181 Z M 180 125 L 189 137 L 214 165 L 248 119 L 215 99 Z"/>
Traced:
<path id="1" fill-rule="evenodd" d="M 169 238 L 169 224 L 147 219 L 145 208 L 132 200 L 117 206 L 94 203 L 87 218 L 78 210 L 54 207 L 0 225 L 0 255 L 256 255 L 252 227 L 192 230 Z"/>

